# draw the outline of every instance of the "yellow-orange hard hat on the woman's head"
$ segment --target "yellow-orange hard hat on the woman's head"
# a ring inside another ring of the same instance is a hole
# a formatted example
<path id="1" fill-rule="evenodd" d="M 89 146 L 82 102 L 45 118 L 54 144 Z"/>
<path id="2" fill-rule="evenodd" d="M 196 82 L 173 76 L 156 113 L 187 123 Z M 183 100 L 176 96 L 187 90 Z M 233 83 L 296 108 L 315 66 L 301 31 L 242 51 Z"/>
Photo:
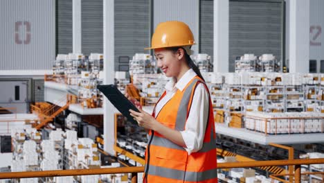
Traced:
<path id="1" fill-rule="evenodd" d="M 189 26 L 181 21 L 165 21 L 156 26 L 152 36 L 152 44 L 146 49 L 190 46 L 195 39 Z"/>

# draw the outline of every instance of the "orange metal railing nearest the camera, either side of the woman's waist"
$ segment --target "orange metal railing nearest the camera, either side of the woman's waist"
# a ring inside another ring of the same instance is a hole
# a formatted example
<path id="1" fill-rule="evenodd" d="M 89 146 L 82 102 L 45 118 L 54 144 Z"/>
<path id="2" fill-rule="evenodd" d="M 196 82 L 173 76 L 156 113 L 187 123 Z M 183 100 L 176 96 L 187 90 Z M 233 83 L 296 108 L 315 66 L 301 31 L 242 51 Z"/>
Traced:
<path id="1" fill-rule="evenodd" d="M 233 162 L 219 163 L 217 168 L 249 168 L 260 166 L 294 166 L 294 173 L 278 174 L 276 176 L 294 176 L 294 182 L 300 183 L 301 165 L 308 164 L 324 164 L 324 158 L 318 159 L 288 159 L 288 160 L 272 160 L 259 162 Z M 93 168 L 93 169 L 76 169 L 76 170 L 60 170 L 60 171 L 29 171 L 29 172 L 10 172 L 0 173 L 0 179 L 17 179 L 31 177 L 60 177 L 60 176 L 75 176 L 75 175 L 100 175 L 100 174 L 116 174 L 116 173 L 132 173 L 132 183 L 137 182 L 137 173 L 143 173 L 144 167 L 124 167 L 124 168 Z M 313 174 L 313 173 L 309 173 Z M 323 174 L 323 172 L 316 172 Z M 272 176 L 274 177 L 274 176 Z M 282 182 L 287 182 L 278 178 Z"/>

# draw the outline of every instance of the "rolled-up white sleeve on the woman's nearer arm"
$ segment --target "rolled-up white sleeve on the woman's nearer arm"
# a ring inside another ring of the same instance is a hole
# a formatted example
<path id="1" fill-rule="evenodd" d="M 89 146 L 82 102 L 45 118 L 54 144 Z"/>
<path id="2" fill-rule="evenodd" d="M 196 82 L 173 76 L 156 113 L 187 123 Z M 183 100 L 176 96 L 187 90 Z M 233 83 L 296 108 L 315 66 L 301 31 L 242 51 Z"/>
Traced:
<path id="1" fill-rule="evenodd" d="M 192 105 L 185 130 L 181 131 L 183 141 L 186 143 L 188 155 L 202 148 L 208 120 L 209 98 L 204 84 L 199 83 L 192 98 Z"/>

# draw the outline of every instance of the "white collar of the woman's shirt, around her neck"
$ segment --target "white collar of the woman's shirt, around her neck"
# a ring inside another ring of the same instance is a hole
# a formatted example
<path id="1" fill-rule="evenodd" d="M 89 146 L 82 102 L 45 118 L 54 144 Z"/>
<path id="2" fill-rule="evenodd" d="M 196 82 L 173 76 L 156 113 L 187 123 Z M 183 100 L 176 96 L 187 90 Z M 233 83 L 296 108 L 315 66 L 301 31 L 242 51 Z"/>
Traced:
<path id="1" fill-rule="evenodd" d="M 165 89 L 167 90 L 167 92 L 171 92 L 173 89 L 177 88 L 180 89 L 182 92 L 183 89 L 186 87 L 186 85 L 188 85 L 190 80 L 192 80 L 192 78 L 195 78 L 195 76 L 197 76 L 195 71 L 189 69 L 188 71 L 186 71 L 186 73 L 183 74 L 183 76 L 180 78 L 180 80 L 177 83 L 175 83 L 174 78 L 169 80 L 169 82 L 165 84 Z"/>

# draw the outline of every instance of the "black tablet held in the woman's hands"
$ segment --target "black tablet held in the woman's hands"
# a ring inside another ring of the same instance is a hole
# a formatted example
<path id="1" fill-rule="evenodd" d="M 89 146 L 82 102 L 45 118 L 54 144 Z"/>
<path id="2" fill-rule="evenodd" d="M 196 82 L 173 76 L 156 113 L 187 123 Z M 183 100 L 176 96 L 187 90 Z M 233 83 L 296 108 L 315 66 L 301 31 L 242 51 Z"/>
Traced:
<path id="1" fill-rule="evenodd" d="M 129 101 L 124 94 L 122 94 L 115 85 L 98 85 L 102 94 L 104 94 L 108 100 L 117 108 L 117 110 L 127 117 L 128 121 L 132 121 L 137 124 L 137 121 L 134 120 L 134 117 L 129 115 L 129 110 L 134 110 L 139 112 L 135 105 Z"/>

